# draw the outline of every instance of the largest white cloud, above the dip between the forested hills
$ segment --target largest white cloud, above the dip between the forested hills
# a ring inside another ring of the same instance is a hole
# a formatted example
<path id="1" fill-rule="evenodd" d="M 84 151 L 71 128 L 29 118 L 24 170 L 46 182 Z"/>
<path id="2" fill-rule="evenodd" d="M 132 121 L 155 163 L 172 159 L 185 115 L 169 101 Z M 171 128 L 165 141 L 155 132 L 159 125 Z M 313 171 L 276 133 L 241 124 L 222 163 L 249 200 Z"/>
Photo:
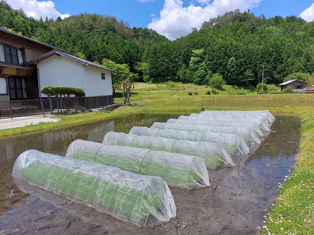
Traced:
<path id="1" fill-rule="evenodd" d="M 154 18 L 148 28 L 174 40 L 192 32 L 191 28 L 200 29 L 204 21 L 217 17 L 228 11 L 241 9 L 241 12 L 252 9 L 261 0 L 197 0 L 201 6 L 191 3 L 183 7 L 181 0 L 165 0 L 160 11 L 160 18 Z"/>

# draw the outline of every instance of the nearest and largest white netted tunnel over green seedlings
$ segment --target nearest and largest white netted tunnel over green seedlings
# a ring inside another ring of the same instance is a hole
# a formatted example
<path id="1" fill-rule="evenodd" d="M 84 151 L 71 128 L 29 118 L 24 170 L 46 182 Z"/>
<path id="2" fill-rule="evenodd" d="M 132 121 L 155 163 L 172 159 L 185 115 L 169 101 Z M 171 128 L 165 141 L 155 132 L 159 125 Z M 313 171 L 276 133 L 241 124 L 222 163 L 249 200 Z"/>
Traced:
<path id="1" fill-rule="evenodd" d="M 171 192 L 160 177 L 33 149 L 19 155 L 12 175 L 137 226 L 158 225 L 176 215 Z"/>

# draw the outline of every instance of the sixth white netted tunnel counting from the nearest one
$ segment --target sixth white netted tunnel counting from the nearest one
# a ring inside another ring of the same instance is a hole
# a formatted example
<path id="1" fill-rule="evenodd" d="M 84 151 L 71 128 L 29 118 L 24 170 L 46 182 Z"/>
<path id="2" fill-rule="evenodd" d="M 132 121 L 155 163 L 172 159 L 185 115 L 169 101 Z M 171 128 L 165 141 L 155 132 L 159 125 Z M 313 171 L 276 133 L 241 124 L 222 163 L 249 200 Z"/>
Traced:
<path id="1" fill-rule="evenodd" d="M 263 130 L 262 125 L 258 123 L 227 123 L 227 122 L 215 122 L 215 121 L 200 121 L 200 120 L 190 120 L 190 119 L 174 119 L 169 118 L 167 123 L 177 123 L 177 124 L 197 124 L 203 126 L 218 126 L 218 127 L 249 127 L 253 130 L 257 137 L 263 137 L 263 132 L 271 131 L 269 127 L 267 130 Z"/>

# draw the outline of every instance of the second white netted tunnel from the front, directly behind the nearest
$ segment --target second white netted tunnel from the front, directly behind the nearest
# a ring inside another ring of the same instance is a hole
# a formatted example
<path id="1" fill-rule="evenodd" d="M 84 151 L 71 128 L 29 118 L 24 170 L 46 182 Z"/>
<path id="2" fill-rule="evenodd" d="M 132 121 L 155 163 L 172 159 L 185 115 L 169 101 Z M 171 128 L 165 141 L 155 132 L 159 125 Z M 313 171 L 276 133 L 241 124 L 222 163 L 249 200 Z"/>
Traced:
<path id="1" fill-rule="evenodd" d="M 199 156 L 77 139 L 69 145 L 66 157 L 114 166 L 140 175 L 159 176 L 173 187 L 192 190 L 210 186 L 205 163 Z"/>

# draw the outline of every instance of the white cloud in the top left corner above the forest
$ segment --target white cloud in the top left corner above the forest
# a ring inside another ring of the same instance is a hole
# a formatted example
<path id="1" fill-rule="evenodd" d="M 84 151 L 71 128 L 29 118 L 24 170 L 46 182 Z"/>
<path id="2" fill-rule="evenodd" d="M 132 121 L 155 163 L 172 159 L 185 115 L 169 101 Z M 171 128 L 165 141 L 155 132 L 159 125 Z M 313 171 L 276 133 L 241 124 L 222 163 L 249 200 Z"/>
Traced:
<path id="1" fill-rule="evenodd" d="M 67 14 L 61 14 L 55 9 L 55 4 L 52 1 L 37 1 L 37 0 L 8 0 L 8 4 L 14 9 L 23 8 L 24 12 L 30 17 L 43 19 L 48 18 L 57 19 L 59 16 L 63 19 L 70 16 Z"/>

